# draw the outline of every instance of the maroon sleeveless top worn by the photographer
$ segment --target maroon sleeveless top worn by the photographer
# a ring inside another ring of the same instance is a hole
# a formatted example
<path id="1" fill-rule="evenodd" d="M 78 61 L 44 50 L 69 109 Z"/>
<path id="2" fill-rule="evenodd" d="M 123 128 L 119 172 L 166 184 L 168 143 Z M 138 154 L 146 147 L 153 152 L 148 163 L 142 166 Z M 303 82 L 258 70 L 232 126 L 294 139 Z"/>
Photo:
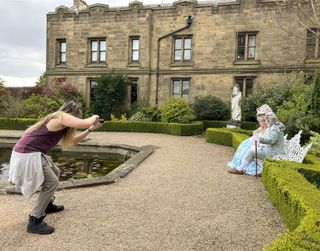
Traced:
<path id="1" fill-rule="evenodd" d="M 13 147 L 13 151 L 19 153 L 42 152 L 47 154 L 62 139 L 67 128 L 60 131 L 48 131 L 43 125 L 39 129 L 24 134 Z"/>

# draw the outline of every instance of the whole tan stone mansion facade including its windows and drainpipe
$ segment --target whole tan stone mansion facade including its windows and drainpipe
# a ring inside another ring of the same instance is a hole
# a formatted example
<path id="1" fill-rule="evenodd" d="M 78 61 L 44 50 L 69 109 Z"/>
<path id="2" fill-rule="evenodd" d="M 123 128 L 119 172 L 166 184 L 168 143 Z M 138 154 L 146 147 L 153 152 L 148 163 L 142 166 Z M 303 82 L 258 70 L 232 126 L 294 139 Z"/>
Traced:
<path id="1" fill-rule="evenodd" d="M 130 79 L 130 105 L 204 95 L 229 102 L 234 84 L 247 95 L 284 73 L 320 65 L 318 40 L 308 40 L 297 21 L 286 24 L 294 36 L 270 24 L 267 0 L 117 8 L 74 2 L 47 14 L 46 76 L 75 85 L 87 104 L 94 79 L 112 70 Z"/>

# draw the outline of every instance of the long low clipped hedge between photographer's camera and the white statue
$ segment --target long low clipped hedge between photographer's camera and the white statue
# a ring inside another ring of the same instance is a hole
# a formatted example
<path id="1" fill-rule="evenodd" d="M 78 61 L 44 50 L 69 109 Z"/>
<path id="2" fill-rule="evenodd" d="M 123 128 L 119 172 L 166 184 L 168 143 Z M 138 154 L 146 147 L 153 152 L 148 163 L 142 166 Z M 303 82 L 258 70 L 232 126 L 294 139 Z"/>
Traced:
<path id="1" fill-rule="evenodd" d="M 164 123 L 164 122 L 120 122 L 106 121 L 97 131 L 111 132 L 150 132 L 150 133 L 165 133 L 180 136 L 199 135 L 202 133 L 202 122 L 194 122 L 190 124 L 180 123 Z"/>

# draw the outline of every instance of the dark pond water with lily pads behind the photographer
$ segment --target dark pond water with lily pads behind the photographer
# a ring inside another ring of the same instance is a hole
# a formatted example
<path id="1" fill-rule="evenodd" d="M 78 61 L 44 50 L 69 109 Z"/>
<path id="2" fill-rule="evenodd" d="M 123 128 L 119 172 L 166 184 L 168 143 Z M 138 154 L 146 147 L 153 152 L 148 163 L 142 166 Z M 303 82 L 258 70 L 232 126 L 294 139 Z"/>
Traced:
<path id="1" fill-rule="evenodd" d="M 61 170 L 60 181 L 104 176 L 126 161 L 119 153 L 51 151 L 56 166 Z M 11 150 L 0 148 L 0 182 L 8 181 Z"/>

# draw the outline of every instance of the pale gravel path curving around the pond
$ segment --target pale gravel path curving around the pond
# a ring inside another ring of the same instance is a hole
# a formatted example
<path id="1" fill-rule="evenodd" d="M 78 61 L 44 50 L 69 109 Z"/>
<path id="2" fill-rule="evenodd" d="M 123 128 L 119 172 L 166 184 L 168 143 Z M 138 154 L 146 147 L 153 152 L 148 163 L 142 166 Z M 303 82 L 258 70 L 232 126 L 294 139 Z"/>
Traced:
<path id="1" fill-rule="evenodd" d="M 0 130 L 0 137 L 21 133 Z M 117 183 L 57 192 L 66 209 L 46 217 L 56 229 L 52 235 L 26 233 L 37 196 L 0 195 L 1 250 L 253 251 L 285 229 L 260 178 L 226 172 L 230 147 L 147 133 L 90 138 L 159 148 Z"/>

